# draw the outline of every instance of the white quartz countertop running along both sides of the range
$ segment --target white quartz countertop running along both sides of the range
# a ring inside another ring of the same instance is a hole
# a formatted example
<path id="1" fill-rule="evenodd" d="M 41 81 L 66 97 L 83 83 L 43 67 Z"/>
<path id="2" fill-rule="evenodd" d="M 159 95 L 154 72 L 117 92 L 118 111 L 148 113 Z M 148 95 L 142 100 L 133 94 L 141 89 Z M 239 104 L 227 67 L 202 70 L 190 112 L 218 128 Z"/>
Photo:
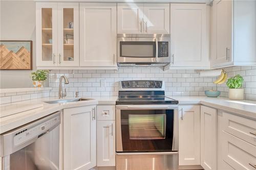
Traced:
<path id="1" fill-rule="evenodd" d="M 227 98 L 208 98 L 206 96 L 167 96 L 179 101 L 180 105 L 202 104 L 205 106 L 222 109 L 228 112 L 240 114 L 256 119 L 256 101 L 232 101 Z M 80 96 L 79 98 L 90 98 L 89 101 L 70 103 L 47 104 L 44 102 L 58 100 L 56 97 L 34 99 L 30 101 L 16 102 L 0 105 L 1 111 L 13 110 L 19 107 L 26 107 L 35 104 L 43 104 L 42 107 L 28 111 L 12 114 L 0 118 L 0 134 L 11 129 L 25 125 L 33 120 L 47 116 L 51 113 L 65 108 L 88 106 L 88 105 L 115 105 L 118 96 Z M 66 98 L 74 99 L 74 98 Z M 1 112 L 0 112 L 1 114 Z"/>

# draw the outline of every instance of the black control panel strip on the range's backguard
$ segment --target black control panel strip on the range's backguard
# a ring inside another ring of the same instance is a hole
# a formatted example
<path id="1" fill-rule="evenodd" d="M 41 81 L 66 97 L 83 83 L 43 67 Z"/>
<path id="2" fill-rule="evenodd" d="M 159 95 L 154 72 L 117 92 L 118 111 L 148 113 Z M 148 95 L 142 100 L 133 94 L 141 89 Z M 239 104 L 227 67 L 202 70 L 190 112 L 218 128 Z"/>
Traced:
<path id="1" fill-rule="evenodd" d="M 121 81 L 122 88 L 162 88 L 162 81 L 154 80 L 133 80 Z"/>

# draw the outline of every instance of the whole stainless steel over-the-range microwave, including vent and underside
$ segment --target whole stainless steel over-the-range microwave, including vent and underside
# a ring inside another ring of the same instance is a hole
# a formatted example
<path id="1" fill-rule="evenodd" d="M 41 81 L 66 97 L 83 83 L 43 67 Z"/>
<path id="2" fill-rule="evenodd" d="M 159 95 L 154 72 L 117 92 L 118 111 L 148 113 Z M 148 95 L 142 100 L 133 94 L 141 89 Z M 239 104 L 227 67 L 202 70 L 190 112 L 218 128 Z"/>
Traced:
<path id="1" fill-rule="evenodd" d="M 170 63 L 169 34 L 118 34 L 119 67 L 164 67 Z"/>

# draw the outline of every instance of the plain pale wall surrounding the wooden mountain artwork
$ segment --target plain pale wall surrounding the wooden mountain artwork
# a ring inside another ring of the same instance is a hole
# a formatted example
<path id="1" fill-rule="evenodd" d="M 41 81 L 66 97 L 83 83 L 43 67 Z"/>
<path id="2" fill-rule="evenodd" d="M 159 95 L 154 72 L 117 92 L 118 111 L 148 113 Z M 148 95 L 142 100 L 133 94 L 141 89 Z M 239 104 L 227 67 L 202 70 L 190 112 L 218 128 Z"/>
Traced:
<path id="1" fill-rule="evenodd" d="M 0 39 L 32 40 L 33 69 L 35 69 L 35 2 L 0 1 Z M 0 88 L 33 87 L 29 77 L 32 70 L 1 70 Z"/>

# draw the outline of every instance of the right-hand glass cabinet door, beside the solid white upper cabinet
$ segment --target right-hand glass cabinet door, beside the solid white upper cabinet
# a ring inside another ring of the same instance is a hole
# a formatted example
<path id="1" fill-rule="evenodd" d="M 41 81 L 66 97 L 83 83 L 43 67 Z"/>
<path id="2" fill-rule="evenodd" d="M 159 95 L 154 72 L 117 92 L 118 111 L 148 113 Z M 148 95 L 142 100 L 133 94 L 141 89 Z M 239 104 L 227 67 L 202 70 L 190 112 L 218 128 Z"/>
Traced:
<path id="1" fill-rule="evenodd" d="M 79 65 L 79 4 L 58 3 L 58 62 Z"/>

